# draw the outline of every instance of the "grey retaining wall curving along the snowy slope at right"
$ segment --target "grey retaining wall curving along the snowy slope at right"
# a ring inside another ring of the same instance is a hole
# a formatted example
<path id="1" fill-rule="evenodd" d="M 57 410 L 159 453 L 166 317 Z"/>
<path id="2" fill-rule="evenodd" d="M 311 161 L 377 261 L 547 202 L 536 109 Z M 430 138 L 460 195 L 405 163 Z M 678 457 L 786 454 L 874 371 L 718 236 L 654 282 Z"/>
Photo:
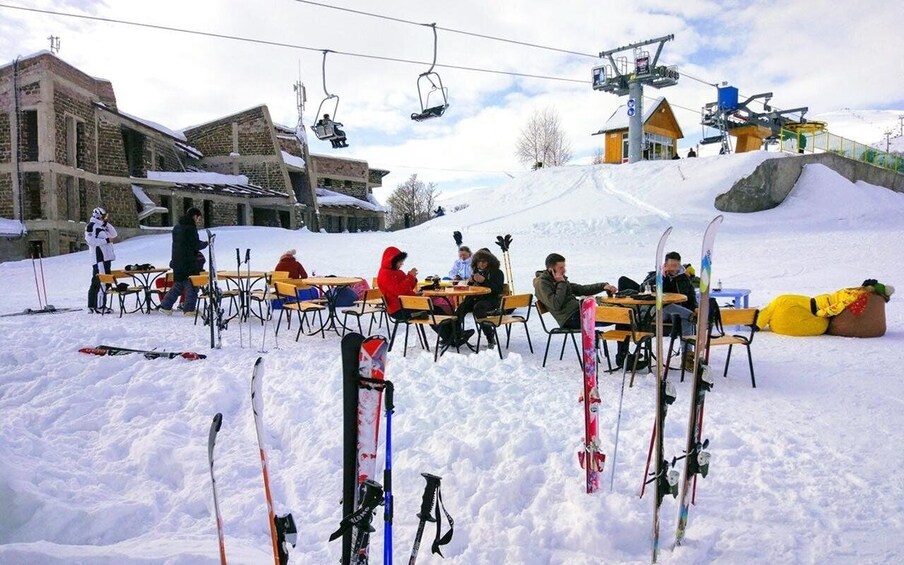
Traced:
<path id="1" fill-rule="evenodd" d="M 834 153 L 776 157 L 760 163 L 749 176 L 716 197 L 716 209 L 723 212 L 760 212 L 785 201 L 800 178 L 803 167 L 822 164 L 851 182 L 863 181 L 904 192 L 904 175 Z"/>

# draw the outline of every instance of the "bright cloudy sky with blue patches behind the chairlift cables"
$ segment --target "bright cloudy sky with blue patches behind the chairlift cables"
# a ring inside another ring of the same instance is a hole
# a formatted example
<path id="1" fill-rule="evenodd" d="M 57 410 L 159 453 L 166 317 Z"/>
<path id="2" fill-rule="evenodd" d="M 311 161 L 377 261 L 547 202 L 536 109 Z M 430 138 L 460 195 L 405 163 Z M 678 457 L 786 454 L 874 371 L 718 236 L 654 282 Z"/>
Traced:
<path id="1" fill-rule="evenodd" d="M 674 34 L 661 64 L 677 65 L 665 95 L 685 134 L 682 153 L 701 136 L 699 109 L 715 100 L 711 84 L 727 81 L 742 95 L 773 92 L 779 108 L 810 115 L 852 109 L 904 108 L 899 27 L 904 3 L 866 0 L 459 0 L 323 2 L 440 27 L 555 47 L 562 53 L 440 30 L 437 63 L 570 79 L 544 80 L 437 68 L 449 109 L 416 123 L 417 77 L 433 56 L 429 27 L 375 18 L 298 0 L 0 0 L 0 64 L 49 47 L 84 72 L 113 82 L 122 111 L 172 129 L 266 104 L 277 122 L 298 121 L 293 84 L 306 86 L 305 123 L 324 97 L 320 50 L 407 59 L 407 64 L 330 54 L 328 90 L 350 147 L 340 155 L 389 169 L 378 198 L 417 173 L 446 195 L 494 186 L 525 172 L 515 157 L 521 128 L 538 110 L 558 112 L 573 163 L 589 163 L 601 143 L 591 137 L 624 103 L 590 88 L 601 50 Z M 261 45 L 36 14 L 25 6 L 241 36 L 298 47 Z M 694 77 L 700 80 L 693 80 Z M 701 80 L 703 82 L 701 82 Z M 581 82 L 574 82 L 581 81 Z M 709 83 L 709 84 L 705 84 Z M 832 124 L 829 124 L 832 130 Z M 311 151 L 333 152 L 311 140 Z M 872 142 L 874 140 L 864 140 Z"/>

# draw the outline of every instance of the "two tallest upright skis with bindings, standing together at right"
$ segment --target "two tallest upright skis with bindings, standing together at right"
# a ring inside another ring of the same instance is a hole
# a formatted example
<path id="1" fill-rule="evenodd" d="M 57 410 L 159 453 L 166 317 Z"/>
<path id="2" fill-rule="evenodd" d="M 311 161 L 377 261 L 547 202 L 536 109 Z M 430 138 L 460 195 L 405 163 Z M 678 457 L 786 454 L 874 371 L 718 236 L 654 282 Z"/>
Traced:
<path id="1" fill-rule="evenodd" d="M 656 249 L 656 418 L 653 425 L 653 441 L 651 443 L 651 451 L 653 456 L 653 472 L 650 473 L 650 479 L 645 481 L 652 483 L 654 487 L 653 496 L 653 548 L 652 562 L 656 563 L 659 557 L 659 517 L 662 501 L 666 495 L 678 496 L 678 471 L 675 469 L 677 462 L 684 460 L 683 480 L 680 485 L 680 502 L 678 514 L 678 526 L 675 531 L 675 545 L 681 545 L 687 531 L 688 512 L 690 510 L 690 492 L 693 487 L 696 488 L 697 475 L 706 476 L 709 470 L 709 454 L 703 451 L 709 444 L 708 440 L 701 440 L 703 432 L 703 403 L 706 398 L 706 392 L 712 388 L 712 379 L 709 376 L 708 359 L 704 360 L 701 355 L 704 351 L 708 351 L 709 339 L 709 290 L 710 280 L 712 278 L 712 254 L 713 243 L 715 242 L 716 231 L 722 224 L 722 216 L 716 216 L 707 226 L 703 235 L 703 250 L 700 261 L 700 305 L 697 311 L 697 332 L 694 341 L 694 380 L 691 385 L 691 409 L 689 414 L 687 445 L 684 455 L 674 457 L 669 463 L 664 456 L 663 435 L 665 429 L 665 417 L 668 406 L 675 401 L 675 389 L 672 383 L 668 382 L 668 363 L 666 361 L 665 371 L 663 371 L 663 314 L 662 314 L 662 266 L 665 259 L 665 244 L 668 240 L 672 228 L 666 229 L 659 240 Z M 676 327 L 677 326 L 677 327 Z M 671 345 L 679 335 L 680 320 L 677 317 L 672 319 L 672 335 L 669 345 L 669 354 L 671 354 Z M 669 355 L 669 359 L 670 359 Z M 649 458 L 647 464 L 649 465 Z M 643 496 L 643 488 L 641 489 Z"/>

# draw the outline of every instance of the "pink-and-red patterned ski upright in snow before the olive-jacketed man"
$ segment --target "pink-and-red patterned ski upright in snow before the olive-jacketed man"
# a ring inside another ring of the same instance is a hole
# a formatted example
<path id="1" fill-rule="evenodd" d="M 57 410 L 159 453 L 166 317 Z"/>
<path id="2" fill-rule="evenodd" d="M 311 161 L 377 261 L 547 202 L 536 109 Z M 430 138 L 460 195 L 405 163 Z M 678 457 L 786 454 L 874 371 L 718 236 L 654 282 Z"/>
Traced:
<path id="1" fill-rule="evenodd" d="M 584 368 L 581 402 L 584 404 L 584 443 L 578 452 L 578 462 L 584 469 L 587 493 L 600 488 L 600 476 L 606 463 L 599 436 L 600 393 L 597 388 L 596 365 L 596 299 L 585 298 L 581 302 L 581 349 Z"/>

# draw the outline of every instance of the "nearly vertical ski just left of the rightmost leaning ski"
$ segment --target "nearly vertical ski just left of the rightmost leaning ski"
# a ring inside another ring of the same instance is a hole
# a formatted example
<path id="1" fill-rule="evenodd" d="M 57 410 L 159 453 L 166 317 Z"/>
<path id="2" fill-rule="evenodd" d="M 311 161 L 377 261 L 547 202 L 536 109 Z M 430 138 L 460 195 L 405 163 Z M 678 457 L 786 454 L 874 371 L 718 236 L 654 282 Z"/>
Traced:
<path id="1" fill-rule="evenodd" d="M 655 496 L 653 497 L 653 563 L 656 563 L 659 557 L 659 509 L 662 506 L 662 499 L 673 490 L 669 478 L 675 478 L 675 475 L 669 472 L 669 463 L 665 460 L 662 446 L 666 410 L 668 405 L 675 399 L 674 390 L 670 391 L 668 389 L 671 383 L 667 382 L 667 375 L 663 372 L 662 366 L 662 265 L 665 261 L 665 244 L 671 233 L 672 228 L 667 228 L 659 239 L 659 245 L 656 247 L 656 420 L 653 425 L 656 460 L 653 467 L 653 478 L 651 479 L 655 485 Z M 674 322 L 675 320 L 673 320 Z M 669 352 L 666 355 L 670 353 L 671 347 L 669 347 Z"/>

